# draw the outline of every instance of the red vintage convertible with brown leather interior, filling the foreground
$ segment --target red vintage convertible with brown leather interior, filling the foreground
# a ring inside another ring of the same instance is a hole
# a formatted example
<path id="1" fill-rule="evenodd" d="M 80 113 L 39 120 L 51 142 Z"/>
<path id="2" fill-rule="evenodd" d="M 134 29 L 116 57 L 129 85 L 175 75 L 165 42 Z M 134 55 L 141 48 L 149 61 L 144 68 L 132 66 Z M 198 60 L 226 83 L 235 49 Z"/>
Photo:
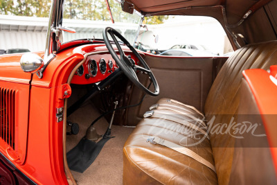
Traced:
<path id="1" fill-rule="evenodd" d="M 0 56 L 1 184 L 277 184 L 277 0 L 109 2 L 53 0 L 45 51 Z M 63 42 L 106 3 L 90 19 L 214 17 L 235 53 L 151 55 L 110 26 Z"/>

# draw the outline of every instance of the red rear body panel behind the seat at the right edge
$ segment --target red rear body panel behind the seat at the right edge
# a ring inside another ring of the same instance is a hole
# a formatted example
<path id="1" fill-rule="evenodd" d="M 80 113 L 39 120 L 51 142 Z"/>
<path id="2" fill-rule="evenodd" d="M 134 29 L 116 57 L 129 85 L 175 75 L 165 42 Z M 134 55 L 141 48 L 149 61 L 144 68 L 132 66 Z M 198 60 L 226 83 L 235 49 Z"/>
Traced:
<path id="1" fill-rule="evenodd" d="M 270 67 L 270 73 L 263 69 L 249 69 L 243 71 L 249 87 L 256 99 L 258 109 L 267 133 L 267 139 L 274 160 L 277 175 L 277 66 Z M 274 80 L 275 79 L 275 80 Z"/>

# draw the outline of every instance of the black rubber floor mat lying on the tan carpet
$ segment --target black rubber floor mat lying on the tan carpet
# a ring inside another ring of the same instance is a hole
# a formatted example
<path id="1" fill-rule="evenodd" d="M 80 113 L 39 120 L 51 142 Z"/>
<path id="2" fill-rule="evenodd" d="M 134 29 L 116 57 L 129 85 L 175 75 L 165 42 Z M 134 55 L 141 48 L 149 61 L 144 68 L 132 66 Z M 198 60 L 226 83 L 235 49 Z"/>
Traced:
<path id="1" fill-rule="evenodd" d="M 96 159 L 103 146 L 111 138 L 103 138 L 93 142 L 88 139 L 81 139 L 77 146 L 66 153 L 69 168 L 79 173 L 83 173 Z"/>

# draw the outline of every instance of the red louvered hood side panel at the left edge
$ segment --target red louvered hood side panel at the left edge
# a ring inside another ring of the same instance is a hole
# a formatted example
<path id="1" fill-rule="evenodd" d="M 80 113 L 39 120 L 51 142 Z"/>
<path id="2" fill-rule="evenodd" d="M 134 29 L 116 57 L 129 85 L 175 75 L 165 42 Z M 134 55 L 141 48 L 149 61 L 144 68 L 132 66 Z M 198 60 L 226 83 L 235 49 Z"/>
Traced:
<path id="1" fill-rule="evenodd" d="M 16 164 L 24 164 L 28 134 L 29 85 L 0 81 L 0 94 L 0 152 Z"/>

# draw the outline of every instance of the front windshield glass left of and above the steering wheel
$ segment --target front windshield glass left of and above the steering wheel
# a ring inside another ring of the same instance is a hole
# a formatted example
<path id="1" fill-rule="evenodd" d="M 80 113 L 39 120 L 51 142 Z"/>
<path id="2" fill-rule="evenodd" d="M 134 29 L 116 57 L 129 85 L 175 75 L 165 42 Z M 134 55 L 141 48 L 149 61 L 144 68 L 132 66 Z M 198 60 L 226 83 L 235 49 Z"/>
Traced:
<path id="1" fill-rule="evenodd" d="M 76 33 L 63 32 L 63 43 L 75 39 L 102 39 L 102 30 L 109 26 L 132 44 L 141 17 L 135 12 L 133 15 L 123 12 L 119 1 L 109 0 L 109 6 L 114 24 L 105 0 L 66 0 L 62 26 L 73 28 Z"/>

